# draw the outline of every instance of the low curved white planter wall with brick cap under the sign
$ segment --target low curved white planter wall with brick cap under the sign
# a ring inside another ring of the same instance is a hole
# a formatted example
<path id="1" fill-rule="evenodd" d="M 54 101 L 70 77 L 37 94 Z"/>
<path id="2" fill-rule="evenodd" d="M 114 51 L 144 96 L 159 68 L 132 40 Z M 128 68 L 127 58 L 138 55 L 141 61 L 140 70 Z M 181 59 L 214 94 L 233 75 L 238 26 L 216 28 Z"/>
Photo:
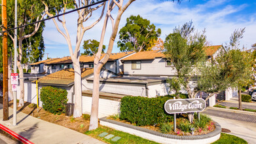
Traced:
<path id="1" fill-rule="evenodd" d="M 215 122 L 215 130 L 204 135 L 187 135 L 178 136 L 170 134 L 162 134 L 160 132 L 155 132 L 153 130 L 148 130 L 145 128 L 139 128 L 137 126 L 132 126 L 130 124 L 124 124 L 122 122 L 117 122 L 115 120 L 109 120 L 106 117 L 100 118 L 100 124 L 113 128 L 115 130 L 120 130 L 122 132 L 127 132 L 129 134 L 137 135 L 151 141 L 156 141 L 158 143 L 213 143 L 217 141 L 221 136 L 221 126 Z"/>

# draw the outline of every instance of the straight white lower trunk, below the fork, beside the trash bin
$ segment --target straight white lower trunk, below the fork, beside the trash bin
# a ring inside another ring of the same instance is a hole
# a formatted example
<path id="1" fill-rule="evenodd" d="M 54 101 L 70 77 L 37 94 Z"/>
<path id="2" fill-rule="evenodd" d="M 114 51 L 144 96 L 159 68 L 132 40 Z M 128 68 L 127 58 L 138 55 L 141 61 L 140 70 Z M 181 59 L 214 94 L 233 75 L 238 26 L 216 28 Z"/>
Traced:
<path id="1" fill-rule="evenodd" d="M 82 81 L 81 81 L 81 69 L 79 61 L 73 62 L 75 79 L 75 107 L 73 117 L 81 117 L 82 115 Z"/>

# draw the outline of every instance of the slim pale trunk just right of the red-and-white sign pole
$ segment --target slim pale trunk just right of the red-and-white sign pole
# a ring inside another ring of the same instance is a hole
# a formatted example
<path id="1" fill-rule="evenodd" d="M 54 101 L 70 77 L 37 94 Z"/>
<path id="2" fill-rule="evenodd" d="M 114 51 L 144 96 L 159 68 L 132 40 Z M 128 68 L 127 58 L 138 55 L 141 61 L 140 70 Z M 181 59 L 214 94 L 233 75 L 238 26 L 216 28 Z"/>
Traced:
<path id="1" fill-rule="evenodd" d="M 18 107 L 24 106 L 24 73 L 23 73 L 23 67 L 22 63 L 20 61 L 17 62 L 17 66 L 19 69 L 19 80 L 20 80 L 20 101 Z"/>

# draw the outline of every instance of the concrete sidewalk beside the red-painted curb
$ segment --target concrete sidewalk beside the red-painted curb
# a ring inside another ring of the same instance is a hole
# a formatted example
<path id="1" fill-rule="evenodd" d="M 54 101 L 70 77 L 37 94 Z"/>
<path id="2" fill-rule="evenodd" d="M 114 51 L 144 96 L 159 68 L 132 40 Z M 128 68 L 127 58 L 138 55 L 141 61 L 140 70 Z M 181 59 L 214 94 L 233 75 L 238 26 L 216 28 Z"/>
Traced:
<path id="1" fill-rule="evenodd" d="M 88 135 L 31 117 L 22 112 L 17 112 L 17 125 L 12 126 L 12 112 L 12 108 L 9 107 L 9 120 L 3 121 L 3 105 L 0 104 L 0 124 L 33 143 L 103 143 Z"/>

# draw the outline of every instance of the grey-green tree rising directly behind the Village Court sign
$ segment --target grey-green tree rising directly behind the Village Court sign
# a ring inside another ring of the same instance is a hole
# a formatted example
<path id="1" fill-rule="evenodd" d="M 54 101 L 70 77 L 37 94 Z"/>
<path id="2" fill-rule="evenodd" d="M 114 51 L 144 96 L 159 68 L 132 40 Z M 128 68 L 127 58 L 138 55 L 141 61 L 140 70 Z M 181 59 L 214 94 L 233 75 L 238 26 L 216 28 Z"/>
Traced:
<path id="1" fill-rule="evenodd" d="M 177 71 L 177 80 L 189 95 L 194 98 L 190 81 L 194 78 L 194 66 L 205 60 L 204 43 L 206 36 L 203 33 L 193 33 L 192 22 L 185 23 L 182 27 L 175 27 L 173 33 L 166 37 L 164 47 L 166 58 L 170 59 Z"/>

